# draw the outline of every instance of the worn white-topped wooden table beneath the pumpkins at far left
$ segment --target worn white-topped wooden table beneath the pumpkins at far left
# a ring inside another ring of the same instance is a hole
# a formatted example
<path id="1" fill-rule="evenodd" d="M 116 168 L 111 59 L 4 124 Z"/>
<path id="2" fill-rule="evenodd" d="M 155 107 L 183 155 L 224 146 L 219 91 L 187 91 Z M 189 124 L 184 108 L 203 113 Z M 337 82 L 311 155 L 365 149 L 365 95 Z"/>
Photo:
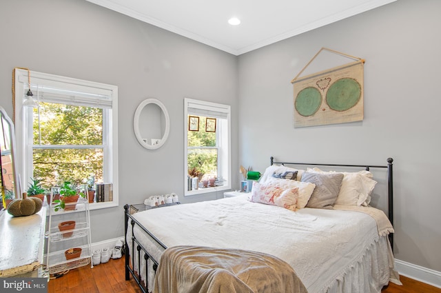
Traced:
<path id="1" fill-rule="evenodd" d="M 0 211 L 0 277 L 43 276 L 45 207 L 30 216 Z"/>

